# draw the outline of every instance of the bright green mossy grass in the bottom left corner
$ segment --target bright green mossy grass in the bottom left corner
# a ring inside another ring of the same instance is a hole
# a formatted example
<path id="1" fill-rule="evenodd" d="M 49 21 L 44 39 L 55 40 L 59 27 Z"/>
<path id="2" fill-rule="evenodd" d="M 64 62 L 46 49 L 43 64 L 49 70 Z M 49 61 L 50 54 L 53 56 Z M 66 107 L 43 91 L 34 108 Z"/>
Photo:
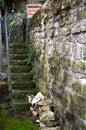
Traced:
<path id="1" fill-rule="evenodd" d="M 38 130 L 38 126 L 30 121 L 19 120 L 14 117 L 8 117 L 7 111 L 0 111 L 0 129 L 1 130 Z"/>

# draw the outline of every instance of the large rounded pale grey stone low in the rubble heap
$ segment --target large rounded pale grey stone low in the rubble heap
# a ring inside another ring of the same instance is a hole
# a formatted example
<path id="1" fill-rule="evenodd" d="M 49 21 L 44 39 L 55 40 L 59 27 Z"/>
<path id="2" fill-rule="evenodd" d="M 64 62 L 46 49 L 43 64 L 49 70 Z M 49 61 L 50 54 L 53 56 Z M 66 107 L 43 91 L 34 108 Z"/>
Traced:
<path id="1" fill-rule="evenodd" d="M 55 120 L 54 112 L 52 111 L 43 112 L 42 115 L 40 116 L 40 121 L 47 122 L 49 120 Z"/>

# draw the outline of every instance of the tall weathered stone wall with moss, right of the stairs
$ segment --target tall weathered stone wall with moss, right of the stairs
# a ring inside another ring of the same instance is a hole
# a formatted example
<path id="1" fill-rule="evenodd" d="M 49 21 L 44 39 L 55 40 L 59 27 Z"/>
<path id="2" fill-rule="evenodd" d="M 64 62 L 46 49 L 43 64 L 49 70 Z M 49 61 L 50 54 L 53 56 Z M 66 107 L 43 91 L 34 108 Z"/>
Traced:
<path id="1" fill-rule="evenodd" d="M 86 129 L 86 1 L 48 0 L 29 22 L 37 87 L 61 130 Z"/>

